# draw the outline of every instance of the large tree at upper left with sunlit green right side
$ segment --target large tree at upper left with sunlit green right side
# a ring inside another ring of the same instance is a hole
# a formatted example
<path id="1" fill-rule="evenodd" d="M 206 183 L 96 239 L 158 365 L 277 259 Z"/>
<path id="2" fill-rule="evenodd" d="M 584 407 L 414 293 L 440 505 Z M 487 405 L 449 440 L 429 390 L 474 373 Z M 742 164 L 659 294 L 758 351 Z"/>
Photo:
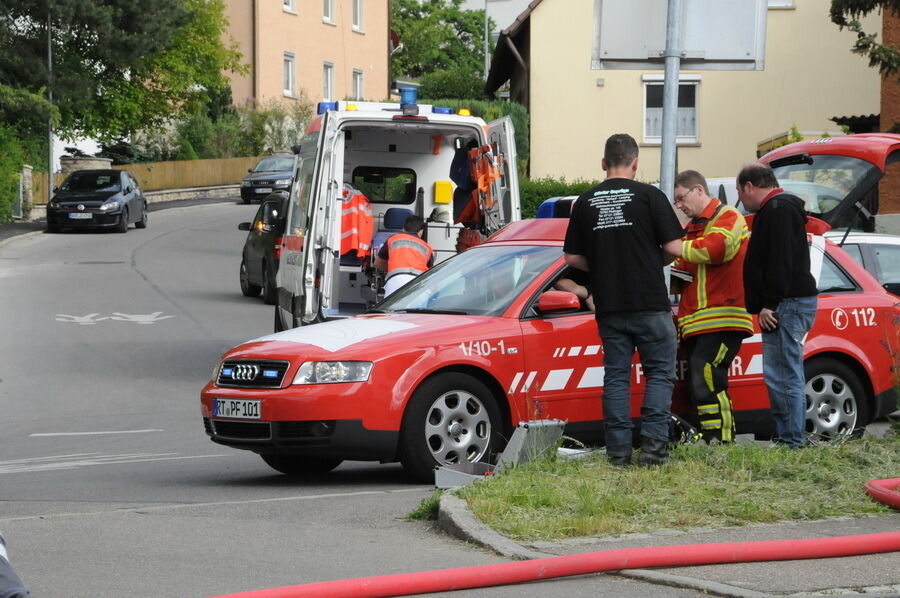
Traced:
<path id="1" fill-rule="evenodd" d="M 0 11 L 0 81 L 33 94 L 49 86 L 63 137 L 159 123 L 242 68 L 236 44 L 222 41 L 222 0 L 0 0 Z"/>

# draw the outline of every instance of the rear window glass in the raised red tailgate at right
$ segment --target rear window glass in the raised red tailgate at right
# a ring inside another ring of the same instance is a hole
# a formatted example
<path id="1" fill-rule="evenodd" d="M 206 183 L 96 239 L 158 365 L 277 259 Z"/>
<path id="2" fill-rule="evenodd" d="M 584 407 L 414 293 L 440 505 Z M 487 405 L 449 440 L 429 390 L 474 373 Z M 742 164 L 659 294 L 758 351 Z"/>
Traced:
<path id="1" fill-rule="evenodd" d="M 794 160 L 781 159 L 776 161 L 772 171 L 778 184 L 785 191 L 800 197 L 810 214 L 827 220 L 834 228 L 846 226 L 849 221 L 842 225 L 834 220 L 831 213 L 875 166 L 850 156 L 814 155 L 811 160 L 812 164 L 807 164 L 800 160 L 793 163 Z M 845 216 L 853 218 L 852 211 L 848 210 Z"/>

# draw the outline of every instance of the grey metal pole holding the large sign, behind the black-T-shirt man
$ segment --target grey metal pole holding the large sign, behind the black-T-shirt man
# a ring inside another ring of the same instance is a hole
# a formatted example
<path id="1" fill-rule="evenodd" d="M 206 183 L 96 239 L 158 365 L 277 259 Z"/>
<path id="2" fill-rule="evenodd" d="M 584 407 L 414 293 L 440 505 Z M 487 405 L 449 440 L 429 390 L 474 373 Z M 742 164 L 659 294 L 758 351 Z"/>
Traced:
<path id="1" fill-rule="evenodd" d="M 669 0 L 666 15 L 666 74 L 663 83 L 663 127 L 659 188 L 671 200 L 675 188 L 675 136 L 678 113 L 678 70 L 681 66 L 681 0 Z"/>

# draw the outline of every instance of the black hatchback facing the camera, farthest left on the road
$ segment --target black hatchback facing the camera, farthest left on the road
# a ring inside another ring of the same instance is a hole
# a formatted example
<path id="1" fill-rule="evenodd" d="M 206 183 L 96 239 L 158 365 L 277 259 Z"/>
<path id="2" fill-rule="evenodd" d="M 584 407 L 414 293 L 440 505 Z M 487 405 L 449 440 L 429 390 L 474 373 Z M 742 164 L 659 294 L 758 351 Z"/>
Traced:
<path id="1" fill-rule="evenodd" d="M 127 170 L 76 170 L 54 189 L 47 204 L 47 232 L 64 228 L 147 228 L 147 199 Z"/>

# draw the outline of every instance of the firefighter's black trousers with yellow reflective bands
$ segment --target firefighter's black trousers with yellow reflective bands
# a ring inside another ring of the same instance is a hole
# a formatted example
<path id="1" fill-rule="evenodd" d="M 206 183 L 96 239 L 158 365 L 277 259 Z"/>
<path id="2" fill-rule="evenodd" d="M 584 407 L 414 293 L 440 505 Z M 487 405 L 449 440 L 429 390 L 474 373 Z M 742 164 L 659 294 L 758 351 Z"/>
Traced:
<path id="1" fill-rule="evenodd" d="M 691 400 L 700 416 L 700 433 L 707 442 L 734 442 L 728 369 L 745 336 L 742 332 L 716 331 L 684 339 Z"/>

